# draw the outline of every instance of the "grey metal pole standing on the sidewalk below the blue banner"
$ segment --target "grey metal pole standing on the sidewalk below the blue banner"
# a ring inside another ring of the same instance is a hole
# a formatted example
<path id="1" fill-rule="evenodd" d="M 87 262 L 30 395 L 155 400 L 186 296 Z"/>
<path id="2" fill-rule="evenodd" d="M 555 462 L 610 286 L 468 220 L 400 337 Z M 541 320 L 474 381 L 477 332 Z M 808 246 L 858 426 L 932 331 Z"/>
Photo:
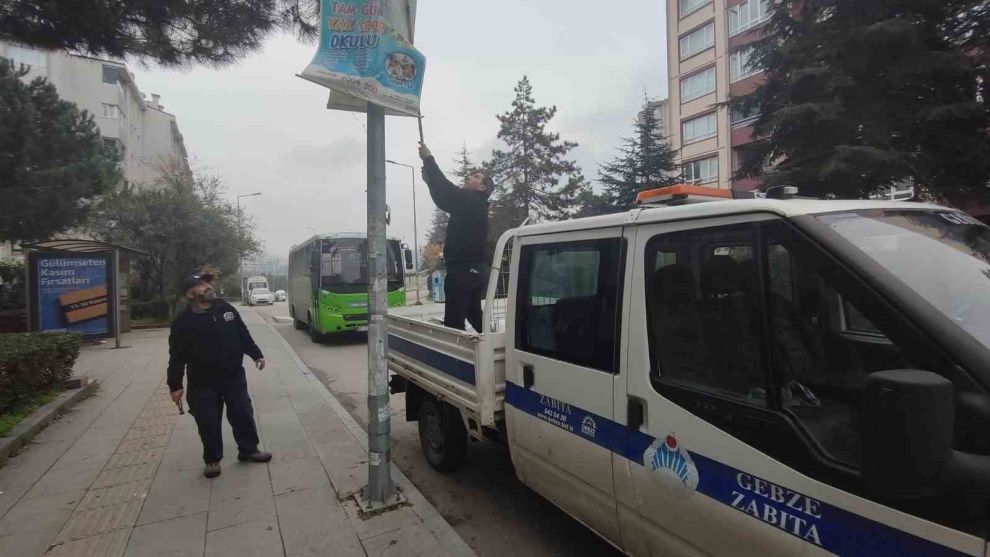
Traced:
<path id="1" fill-rule="evenodd" d="M 368 103 L 368 485 L 363 495 L 371 508 L 396 500 L 389 452 L 386 253 L 385 110 Z"/>

